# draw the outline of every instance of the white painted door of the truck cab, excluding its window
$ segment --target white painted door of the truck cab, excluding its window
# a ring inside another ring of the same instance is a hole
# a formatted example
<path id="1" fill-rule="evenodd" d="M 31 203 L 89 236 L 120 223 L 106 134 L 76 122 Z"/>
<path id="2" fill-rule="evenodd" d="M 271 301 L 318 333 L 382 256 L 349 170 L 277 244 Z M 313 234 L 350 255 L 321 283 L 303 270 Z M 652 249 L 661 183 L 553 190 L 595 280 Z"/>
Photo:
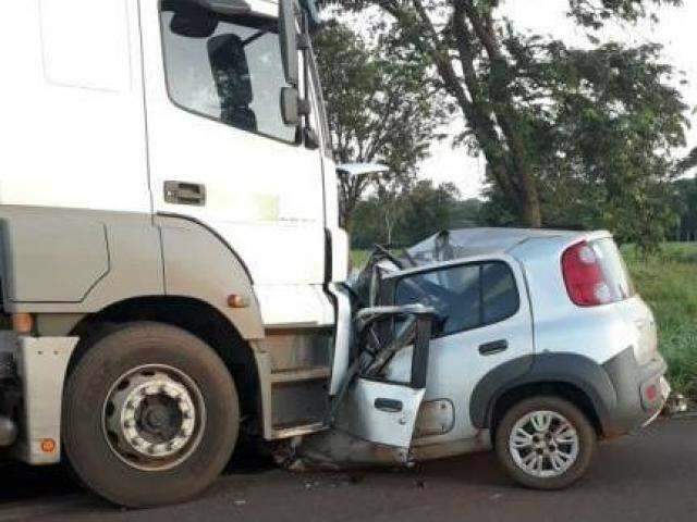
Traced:
<path id="1" fill-rule="evenodd" d="M 155 211 L 186 214 L 213 228 L 245 260 L 257 285 L 321 284 L 319 150 L 176 107 L 167 90 L 157 2 L 143 2 L 142 17 Z M 205 185 L 206 204 L 166 202 L 162 187 L 170 179 Z"/>

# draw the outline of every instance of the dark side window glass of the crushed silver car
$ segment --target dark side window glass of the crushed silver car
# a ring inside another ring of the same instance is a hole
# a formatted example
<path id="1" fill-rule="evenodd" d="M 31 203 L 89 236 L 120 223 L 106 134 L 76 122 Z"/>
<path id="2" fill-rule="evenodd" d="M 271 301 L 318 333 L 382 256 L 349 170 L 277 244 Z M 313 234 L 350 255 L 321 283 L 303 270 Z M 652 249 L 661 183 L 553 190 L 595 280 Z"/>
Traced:
<path id="1" fill-rule="evenodd" d="M 402 277 L 398 306 L 420 302 L 436 309 L 433 335 L 442 337 L 498 323 L 521 304 L 511 268 L 502 261 L 437 269 Z"/>

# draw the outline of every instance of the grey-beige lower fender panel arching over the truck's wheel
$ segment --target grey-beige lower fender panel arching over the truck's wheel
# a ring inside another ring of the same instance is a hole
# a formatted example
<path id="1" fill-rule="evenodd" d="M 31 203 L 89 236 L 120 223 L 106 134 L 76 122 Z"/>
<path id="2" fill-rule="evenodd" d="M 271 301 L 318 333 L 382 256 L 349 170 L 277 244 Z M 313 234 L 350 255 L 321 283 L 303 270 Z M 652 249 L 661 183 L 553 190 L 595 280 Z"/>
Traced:
<path id="1" fill-rule="evenodd" d="M 204 301 L 245 339 L 265 335 L 244 262 L 188 216 L 3 207 L 0 257 L 4 311 L 39 314 L 46 324 L 60 318 L 51 335 L 118 303 L 158 296 Z M 242 308 L 229 306 L 232 295 Z"/>

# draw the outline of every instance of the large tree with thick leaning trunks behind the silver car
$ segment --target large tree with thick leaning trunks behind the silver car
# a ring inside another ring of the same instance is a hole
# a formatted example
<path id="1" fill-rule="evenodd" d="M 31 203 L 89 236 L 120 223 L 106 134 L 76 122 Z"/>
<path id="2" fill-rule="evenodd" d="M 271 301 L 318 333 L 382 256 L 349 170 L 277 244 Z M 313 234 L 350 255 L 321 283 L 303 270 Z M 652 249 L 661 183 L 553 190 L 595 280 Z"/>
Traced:
<path id="1" fill-rule="evenodd" d="M 631 203 L 633 212 L 646 212 L 644 221 L 655 214 L 649 192 L 664 182 L 671 149 L 684 142 L 686 108 L 658 46 L 601 45 L 595 34 L 608 22 L 634 23 L 653 16 L 652 7 L 680 0 L 567 0 L 589 49 L 517 30 L 501 14 L 502 0 L 340 3 L 379 8 L 414 52 L 430 58 L 464 119 L 461 141 L 484 154 L 517 223 L 542 225 L 547 183 L 565 176 L 601 179 L 601 204 Z"/>

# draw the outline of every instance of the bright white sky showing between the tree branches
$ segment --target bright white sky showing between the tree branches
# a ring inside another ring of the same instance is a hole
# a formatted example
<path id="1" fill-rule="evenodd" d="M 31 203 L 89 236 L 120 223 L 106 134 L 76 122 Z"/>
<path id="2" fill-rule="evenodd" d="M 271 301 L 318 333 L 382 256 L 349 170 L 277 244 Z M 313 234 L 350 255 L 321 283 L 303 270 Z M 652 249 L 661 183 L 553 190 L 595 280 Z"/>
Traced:
<path id="1" fill-rule="evenodd" d="M 697 0 L 684 0 L 682 8 L 664 8 L 658 11 L 658 24 L 641 23 L 625 27 L 624 30 L 611 29 L 610 39 L 641 44 L 657 41 L 664 46 L 664 61 L 677 70 L 685 71 L 689 85 L 681 86 L 685 101 L 697 107 Z M 535 5 L 535 9 L 530 9 Z M 529 28 L 535 33 L 551 35 L 563 39 L 567 45 L 584 45 L 584 33 L 565 14 L 568 2 L 564 0 L 508 0 L 506 14 L 519 29 Z M 697 114 L 692 115 L 695 128 L 687 135 L 687 150 L 697 146 Z M 456 130 L 458 125 L 451 125 Z M 686 150 L 686 151 L 687 151 Z M 453 149 L 448 141 L 435 144 L 431 157 L 420 169 L 423 177 L 437 183 L 452 182 L 465 198 L 477 197 L 482 188 L 486 163 L 482 159 L 468 157 L 463 149 Z"/>

